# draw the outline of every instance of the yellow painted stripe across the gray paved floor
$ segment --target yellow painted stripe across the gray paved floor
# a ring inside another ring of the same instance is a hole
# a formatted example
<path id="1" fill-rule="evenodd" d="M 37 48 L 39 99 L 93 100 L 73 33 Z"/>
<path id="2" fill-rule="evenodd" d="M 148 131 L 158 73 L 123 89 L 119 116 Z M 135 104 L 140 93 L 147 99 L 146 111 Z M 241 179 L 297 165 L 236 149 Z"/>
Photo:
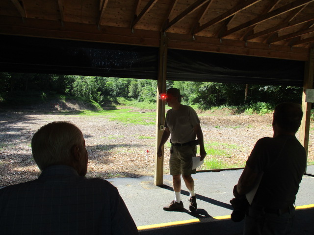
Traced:
<path id="1" fill-rule="evenodd" d="M 303 205 L 303 206 L 295 207 L 296 210 L 309 209 L 309 208 L 314 208 L 314 204 L 309 204 L 309 205 Z M 212 218 L 217 219 L 217 220 L 220 220 L 220 219 L 230 219 L 230 215 L 214 216 Z M 138 230 L 157 229 L 157 228 L 162 228 L 162 227 L 182 225 L 182 224 L 189 224 L 189 223 L 198 223 L 198 222 L 201 222 L 201 220 L 199 220 L 199 219 L 189 219 L 189 220 L 182 220 L 182 221 L 175 221 L 175 222 L 168 222 L 168 223 L 161 223 L 161 224 L 143 225 L 143 226 L 138 226 L 137 229 Z"/>

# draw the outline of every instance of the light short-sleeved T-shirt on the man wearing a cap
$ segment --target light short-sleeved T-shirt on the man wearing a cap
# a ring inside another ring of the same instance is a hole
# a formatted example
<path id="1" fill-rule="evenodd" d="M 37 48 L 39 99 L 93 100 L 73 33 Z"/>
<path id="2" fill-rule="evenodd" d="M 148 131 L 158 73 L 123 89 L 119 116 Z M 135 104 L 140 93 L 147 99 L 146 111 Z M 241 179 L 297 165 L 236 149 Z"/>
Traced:
<path id="1" fill-rule="evenodd" d="M 165 127 L 169 128 L 173 143 L 186 143 L 196 139 L 194 127 L 200 123 L 195 110 L 187 105 L 181 105 L 179 110 L 168 110 Z"/>

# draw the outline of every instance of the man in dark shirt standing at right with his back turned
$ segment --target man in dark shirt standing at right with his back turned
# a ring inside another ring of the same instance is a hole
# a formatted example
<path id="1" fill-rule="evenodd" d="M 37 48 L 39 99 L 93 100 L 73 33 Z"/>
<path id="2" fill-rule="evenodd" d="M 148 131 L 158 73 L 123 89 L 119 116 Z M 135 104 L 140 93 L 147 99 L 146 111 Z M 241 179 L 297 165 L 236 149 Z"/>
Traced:
<path id="1" fill-rule="evenodd" d="M 244 223 L 244 235 L 289 234 L 295 214 L 295 196 L 306 167 L 306 152 L 295 138 L 303 112 L 296 103 L 276 106 L 273 138 L 256 142 L 238 184 L 241 198 L 259 184 Z M 258 180 L 260 179 L 260 180 Z"/>

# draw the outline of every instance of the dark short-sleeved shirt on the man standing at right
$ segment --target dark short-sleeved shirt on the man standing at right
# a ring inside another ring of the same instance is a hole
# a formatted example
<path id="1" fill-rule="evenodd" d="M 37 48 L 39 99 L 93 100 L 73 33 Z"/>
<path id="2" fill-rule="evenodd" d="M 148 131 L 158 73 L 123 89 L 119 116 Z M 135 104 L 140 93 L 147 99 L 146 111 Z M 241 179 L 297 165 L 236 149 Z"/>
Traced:
<path id="1" fill-rule="evenodd" d="M 274 209 L 294 203 L 306 166 L 305 149 L 295 136 L 260 139 L 246 164 L 255 172 L 263 172 L 253 202 Z"/>

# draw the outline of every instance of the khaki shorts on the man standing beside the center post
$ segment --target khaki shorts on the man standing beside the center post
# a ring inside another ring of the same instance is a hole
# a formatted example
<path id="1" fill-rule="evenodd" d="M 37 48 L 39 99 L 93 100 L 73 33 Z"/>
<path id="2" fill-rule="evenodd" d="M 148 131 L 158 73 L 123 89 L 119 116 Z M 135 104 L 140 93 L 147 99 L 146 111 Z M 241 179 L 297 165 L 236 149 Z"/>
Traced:
<path id="1" fill-rule="evenodd" d="M 192 170 L 192 157 L 196 157 L 196 146 L 184 145 L 170 147 L 169 168 L 171 175 L 191 175 L 196 173 Z"/>

